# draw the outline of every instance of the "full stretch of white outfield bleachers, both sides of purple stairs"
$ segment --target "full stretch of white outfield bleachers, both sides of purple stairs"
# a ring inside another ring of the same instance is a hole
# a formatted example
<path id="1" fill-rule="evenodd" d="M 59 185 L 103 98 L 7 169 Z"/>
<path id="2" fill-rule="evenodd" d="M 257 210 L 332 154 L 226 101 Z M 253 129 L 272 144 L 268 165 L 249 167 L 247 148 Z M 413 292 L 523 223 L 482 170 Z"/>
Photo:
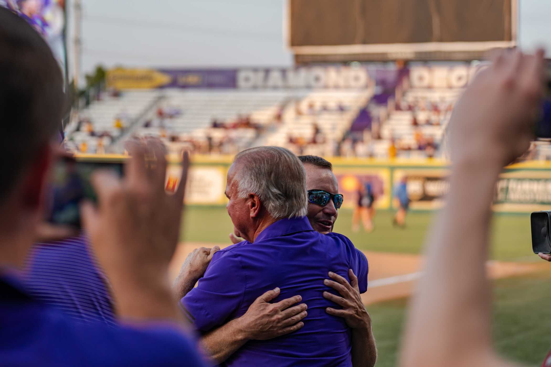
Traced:
<path id="1" fill-rule="evenodd" d="M 80 123 L 69 125 L 68 146 L 80 152 L 122 153 L 125 139 L 156 136 L 174 153 L 186 149 L 231 155 L 252 146 L 277 145 L 321 156 L 443 158 L 447 123 L 466 83 L 450 75 L 473 75 L 472 67 L 463 68 L 413 67 L 382 103 L 374 98 L 379 85 L 104 92 L 79 111 Z M 365 111 L 369 123 L 351 131 Z M 116 127 L 117 119 L 122 127 Z M 551 158 L 548 144 L 534 144 L 533 150 L 532 159 Z"/>

